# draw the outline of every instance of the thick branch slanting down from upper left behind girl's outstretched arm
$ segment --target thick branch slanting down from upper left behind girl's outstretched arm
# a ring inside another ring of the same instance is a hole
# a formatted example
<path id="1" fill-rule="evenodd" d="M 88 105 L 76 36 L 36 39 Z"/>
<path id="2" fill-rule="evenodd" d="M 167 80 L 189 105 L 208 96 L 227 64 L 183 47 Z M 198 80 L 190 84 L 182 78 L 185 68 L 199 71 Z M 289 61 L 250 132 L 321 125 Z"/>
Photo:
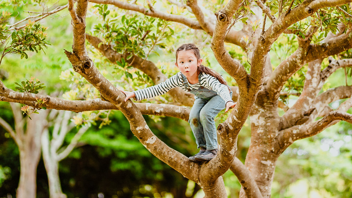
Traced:
<path id="1" fill-rule="evenodd" d="M 92 44 L 96 49 L 98 49 L 112 63 L 116 64 L 116 61 L 120 61 L 121 57 L 124 56 L 117 53 L 109 45 L 99 45 L 99 43 L 102 43 L 102 41 L 98 37 L 86 34 L 86 38 L 90 44 Z M 147 61 L 138 56 L 134 56 L 133 58 L 128 60 L 128 62 L 132 62 L 132 66 L 134 68 L 137 68 L 148 76 L 150 76 L 150 78 L 155 84 L 163 82 L 167 79 L 166 76 L 159 70 L 159 68 L 157 68 L 156 65 L 151 61 Z M 168 91 L 168 94 L 170 94 L 172 98 L 174 98 L 177 102 L 180 102 L 183 105 L 192 106 L 194 103 L 194 95 L 189 92 L 183 91 L 181 88 L 172 88 L 170 89 L 170 91 Z"/>

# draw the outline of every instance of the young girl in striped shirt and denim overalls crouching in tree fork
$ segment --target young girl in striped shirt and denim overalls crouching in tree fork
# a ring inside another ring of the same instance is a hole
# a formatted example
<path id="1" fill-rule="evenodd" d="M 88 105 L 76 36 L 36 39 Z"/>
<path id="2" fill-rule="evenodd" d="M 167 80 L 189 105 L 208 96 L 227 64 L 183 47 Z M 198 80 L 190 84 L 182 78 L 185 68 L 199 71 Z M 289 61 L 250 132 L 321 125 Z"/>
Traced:
<path id="1" fill-rule="evenodd" d="M 176 50 L 176 67 L 180 72 L 158 85 L 138 91 L 122 91 L 125 101 L 135 97 L 136 100 L 162 95 L 174 87 L 181 87 L 195 95 L 194 105 L 189 113 L 191 126 L 199 153 L 190 156 L 191 161 L 210 161 L 218 152 L 218 142 L 214 117 L 226 107 L 233 108 L 232 91 L 225 80 L 203 65 L 199 49 L 194 44 L 183 44 Z"/>

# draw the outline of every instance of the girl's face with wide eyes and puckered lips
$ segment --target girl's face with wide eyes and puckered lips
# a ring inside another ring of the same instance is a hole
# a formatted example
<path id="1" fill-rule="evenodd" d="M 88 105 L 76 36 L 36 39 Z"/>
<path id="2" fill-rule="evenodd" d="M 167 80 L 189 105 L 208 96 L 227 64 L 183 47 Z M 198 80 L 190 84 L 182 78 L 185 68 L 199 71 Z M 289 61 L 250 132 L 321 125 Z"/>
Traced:
<path id="1" fill-rule="evenodd" d="M 197 59 L 193 50 L 182 50 L 177 54 L 176 67 L 180 72 L 189 78 L 198 78 L 197 70 L 201 65 L 202 59 Z"/>

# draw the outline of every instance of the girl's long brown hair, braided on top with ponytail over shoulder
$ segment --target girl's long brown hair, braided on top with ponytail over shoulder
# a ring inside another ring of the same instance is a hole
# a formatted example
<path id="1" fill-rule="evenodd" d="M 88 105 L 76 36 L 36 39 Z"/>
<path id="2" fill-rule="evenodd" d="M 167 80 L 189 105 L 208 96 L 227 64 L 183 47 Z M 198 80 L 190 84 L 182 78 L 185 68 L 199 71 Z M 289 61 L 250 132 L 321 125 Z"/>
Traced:
<path id="1" fill-rule="evenodd" d="M 183 45 L 181 45 L 180 47 L 177 48 L 177 50 L 176 50 L 176 62 L 177 62 L 178 52 L 182 51 L 182 50 L 192 50 L 194 55 L 197 57 L 197 60 L 200 59 L 200 53 L 199 53 L 199 49 L 197 48 L 197 46 L 195 44 L 193 44 L 193 43 L 188 43 L 188 44 L 183 44 Z M 218 79 L 218 81 L 221 84 L 227 85 L 226 81 L 221 78 L 220 74 L 218 72 L 215 72 L 213 69 L 210 69 L 210 68 L 208 68 L 206 66 L 200 65 L 198 67 L 197 71 L 198 71 L 198 75 L 199 75 L 200 72 L 212 75 L 216 79 Z"/>

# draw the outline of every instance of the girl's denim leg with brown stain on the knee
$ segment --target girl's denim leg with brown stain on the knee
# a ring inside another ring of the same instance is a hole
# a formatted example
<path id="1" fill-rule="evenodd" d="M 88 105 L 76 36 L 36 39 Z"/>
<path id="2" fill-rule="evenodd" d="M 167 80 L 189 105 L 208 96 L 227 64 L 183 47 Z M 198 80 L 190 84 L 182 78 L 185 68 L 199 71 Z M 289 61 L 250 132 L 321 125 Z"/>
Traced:
<path id="1" fill-rule="evenodd" d="M 188 123 L 192 129 L 193 135 L 196 138 L 197 148 L 206 147 L 206 140 L 203 134 L 203 127 L 200 122 L 199 112 L 203 106 L 207 103 L 206 100 L 197 98 L 194 101 L 191 111 L 189 112 Z"/>

